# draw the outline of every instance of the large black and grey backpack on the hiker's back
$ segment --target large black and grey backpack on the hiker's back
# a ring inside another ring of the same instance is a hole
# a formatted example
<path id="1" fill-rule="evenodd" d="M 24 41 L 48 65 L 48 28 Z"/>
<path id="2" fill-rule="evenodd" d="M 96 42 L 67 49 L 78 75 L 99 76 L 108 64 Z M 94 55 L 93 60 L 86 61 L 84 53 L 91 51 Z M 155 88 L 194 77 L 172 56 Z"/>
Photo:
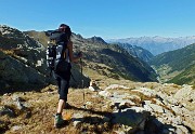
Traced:
<path id="1" fill-rule="evenodd" d="M 50 69 L 50 76 L 52 71 L 62 75 L 70 70 L 70 64 L 64 57 L 67 42 L 65 32 L 58 30 L 51 32 L 47 48 L 47 66 Z"/>

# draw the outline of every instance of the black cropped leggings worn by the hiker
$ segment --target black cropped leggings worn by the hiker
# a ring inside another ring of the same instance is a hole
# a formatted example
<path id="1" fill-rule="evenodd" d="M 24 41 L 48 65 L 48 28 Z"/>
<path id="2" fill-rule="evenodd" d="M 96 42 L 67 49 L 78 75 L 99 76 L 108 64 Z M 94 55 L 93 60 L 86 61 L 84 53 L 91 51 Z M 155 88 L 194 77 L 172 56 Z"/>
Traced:
<path id="1" fill-rule="evenodd" d="M 67 94 L 69 89 L 70 71 L 66 75 L 60 76 L 55 73 L 55 79 L 58 85 L 60 99 L 67 102 Z"/>

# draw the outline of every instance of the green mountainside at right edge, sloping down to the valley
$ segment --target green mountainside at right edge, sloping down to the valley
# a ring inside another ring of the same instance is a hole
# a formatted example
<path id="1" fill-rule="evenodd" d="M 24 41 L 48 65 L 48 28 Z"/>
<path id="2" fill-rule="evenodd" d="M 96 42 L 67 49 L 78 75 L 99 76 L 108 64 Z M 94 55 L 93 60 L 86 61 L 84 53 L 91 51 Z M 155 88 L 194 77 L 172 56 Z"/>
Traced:
<path id="1" fill-rule="evenodd" d="M 195 43 L 183 49 L 166 52 L 150 62 L 164 81 L 178 84 L 195 84 Z"/>

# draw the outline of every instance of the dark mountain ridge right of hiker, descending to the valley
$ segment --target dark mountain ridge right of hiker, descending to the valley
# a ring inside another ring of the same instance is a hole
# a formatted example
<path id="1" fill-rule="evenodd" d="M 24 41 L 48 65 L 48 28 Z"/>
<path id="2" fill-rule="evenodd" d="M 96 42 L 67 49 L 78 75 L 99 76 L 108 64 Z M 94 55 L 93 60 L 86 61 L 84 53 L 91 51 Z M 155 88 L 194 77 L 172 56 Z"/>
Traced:
<path id="1" fill-rule="evenodd" d="M 122 78 L 135 81 L 156 81 L 156 73 L 147 64 L 130 55 L 117 44 L 83 39 L 76 35 L 73 37 L 73 41 L 76 48 L 83 51 L 84 59 L 109 66 L 112 72 Z"/>

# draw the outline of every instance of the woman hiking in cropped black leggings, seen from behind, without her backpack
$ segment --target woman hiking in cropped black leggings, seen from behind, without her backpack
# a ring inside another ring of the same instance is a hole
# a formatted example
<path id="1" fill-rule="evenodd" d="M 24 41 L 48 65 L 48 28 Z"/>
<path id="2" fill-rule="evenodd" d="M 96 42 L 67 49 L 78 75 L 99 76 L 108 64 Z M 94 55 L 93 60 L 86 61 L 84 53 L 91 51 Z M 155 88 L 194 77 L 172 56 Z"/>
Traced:
<path id="1" fill-rule="evenodd" d="M 58 105 L 57 105 L 57 110 L 54 119 L 54 126 L 58 128 L 62 124 L 65 123 L 65 120 L 62 117 L 63 109 L 65 108 L 65 104 L 67 102 L 67 94 L 68 94 L 68 88 L 69 88 L 69 80 L 70 80 L 70 62 L 77 62 L 82 57 L 81 52 L 77 55 L 74 56 L 73 52 L 73 42 L 70 41 L 72 37 L 72 30 L 69 26 L 65 24 L 61 24 L 58 27 L 58 31 L 65 32 L 66 36 L 63 38 L 67 38 L 66 42 L 66 50 L 64 51 L 64 54 L 61 54 L 65 56 L 66 62 L 69 64 L 68 71 L 66 73 L 56 73 L 54 72 L 54 77 L 56 79 L 57 85 L 58 85 L 58 94 L 60 94 L 60 99 L 58 99 Z"/>

